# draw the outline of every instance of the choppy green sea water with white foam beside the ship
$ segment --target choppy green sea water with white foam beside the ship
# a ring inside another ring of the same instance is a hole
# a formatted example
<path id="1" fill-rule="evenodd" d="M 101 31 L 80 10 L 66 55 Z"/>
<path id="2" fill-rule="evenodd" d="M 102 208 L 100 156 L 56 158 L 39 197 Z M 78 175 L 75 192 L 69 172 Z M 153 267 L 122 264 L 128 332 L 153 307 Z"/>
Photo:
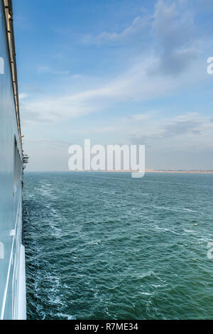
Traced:
<path id="1" fill-rule="evenodd" d="M 213 175 L 26 173 L 29 319 L 213 319 Z"/>

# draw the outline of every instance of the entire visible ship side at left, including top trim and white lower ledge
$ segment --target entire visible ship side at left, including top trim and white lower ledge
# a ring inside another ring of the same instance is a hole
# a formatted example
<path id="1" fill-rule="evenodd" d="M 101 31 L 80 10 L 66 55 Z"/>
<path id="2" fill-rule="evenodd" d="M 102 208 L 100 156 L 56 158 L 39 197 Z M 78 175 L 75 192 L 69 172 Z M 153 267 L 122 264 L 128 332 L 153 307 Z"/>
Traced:
<path id="1" fill-rule="evenodd" d="M 25 319 L 23 152 L 9 0 L 0 0 L 0 156 L 0 319 Z"/>

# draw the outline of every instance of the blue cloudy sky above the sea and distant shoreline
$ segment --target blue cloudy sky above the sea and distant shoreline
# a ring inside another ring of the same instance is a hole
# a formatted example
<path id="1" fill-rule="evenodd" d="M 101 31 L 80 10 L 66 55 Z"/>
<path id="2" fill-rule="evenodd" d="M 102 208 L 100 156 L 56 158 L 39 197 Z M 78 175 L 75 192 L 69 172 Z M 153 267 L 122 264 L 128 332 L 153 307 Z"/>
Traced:
<path id="1" fill-rule="evenodd" d="M 213 170 L 212 0 L 13 0 L 28 171 L 71 144 L 145 144 L 146 168 Z"/>

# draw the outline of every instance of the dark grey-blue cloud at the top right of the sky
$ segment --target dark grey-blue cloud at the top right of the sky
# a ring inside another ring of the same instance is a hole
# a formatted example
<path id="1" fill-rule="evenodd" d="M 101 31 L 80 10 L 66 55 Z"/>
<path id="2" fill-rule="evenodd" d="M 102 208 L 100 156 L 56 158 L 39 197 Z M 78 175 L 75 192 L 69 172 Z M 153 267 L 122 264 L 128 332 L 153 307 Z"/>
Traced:
<path id="1" fill-rule="evenodd" d="M 192 11 L 187 1 L 159 0 L 155 5 L 153 34 L 159 54 L 153 72 L 178 75 L 187 70 L 200 53 Z"/>

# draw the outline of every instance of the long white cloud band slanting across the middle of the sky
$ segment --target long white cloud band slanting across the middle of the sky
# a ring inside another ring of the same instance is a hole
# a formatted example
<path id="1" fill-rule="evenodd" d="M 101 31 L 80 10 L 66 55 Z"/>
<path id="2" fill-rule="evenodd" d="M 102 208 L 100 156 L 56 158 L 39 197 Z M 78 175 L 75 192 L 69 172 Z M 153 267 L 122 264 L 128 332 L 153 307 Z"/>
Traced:
<path id="1" fill-rule="evenodd" d="M 123 74 L 102 83 L 93 90 L 83 90 L 70 95 L 50 95 L 22 101 L 23 119 L 30 122 L 58 122 L 99 112 L 116 102 L 146 101 L 174 94 L 178 90 L 201 81 L 206 73 L 195 64 L 179 77 L 150 75 L 156 58 L 141 60 Z M 71 91 L 71 89 L 70 89 Z"/>

